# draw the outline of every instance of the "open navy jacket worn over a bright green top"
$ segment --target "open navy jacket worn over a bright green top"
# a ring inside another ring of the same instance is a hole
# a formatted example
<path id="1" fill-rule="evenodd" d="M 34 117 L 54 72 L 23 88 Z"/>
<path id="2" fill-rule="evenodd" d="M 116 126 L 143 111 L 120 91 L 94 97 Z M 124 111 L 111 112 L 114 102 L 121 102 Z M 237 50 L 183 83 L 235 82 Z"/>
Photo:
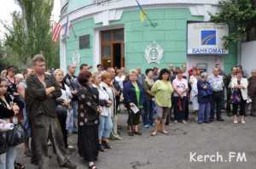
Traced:
<path id="1" fill-rule="evenodd" d="M 131 103 L 138 105 L 143 105 L 145 101 L 145 93 L 141 83 L 137 82 L 137 86 L 140 89 L 140 103 L 137 103 L 137 95 L 135 91 L 135 87 L 131 82 L 125 82 L 124 86 L 124 102 L 126 107 L 130 107 Z"/>

